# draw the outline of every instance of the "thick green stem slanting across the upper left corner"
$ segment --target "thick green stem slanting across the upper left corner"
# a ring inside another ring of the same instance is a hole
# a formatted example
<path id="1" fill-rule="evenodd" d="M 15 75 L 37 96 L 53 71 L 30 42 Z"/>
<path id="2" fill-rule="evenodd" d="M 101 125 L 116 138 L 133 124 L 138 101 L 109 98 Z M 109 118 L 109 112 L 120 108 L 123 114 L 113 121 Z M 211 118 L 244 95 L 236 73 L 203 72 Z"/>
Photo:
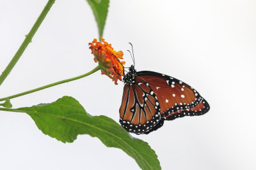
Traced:
<path id="1" fill-rule="evenodd" d="M 26 38 L 24 39 L 23 43 L 20 45 L 20 48 L 15 53 L 15 55 L 13 56 L 12 60 L 8 64 L 8 66 L 4 69 L 3 73 L 1 74 L 1 76 L 0 76 L 0 85 L 3 83 L 3 81 L 8 76 L 8 74 L 10 74 L 13 67 L 15 66 L 15 64 L 20 59 L 20 56 L 22 55 L 24 50 L 27 48 L 28 44 L 31 42 L 31 39 L 35 35 L 38 27 L 42 24 L 45 16 L 47 15 L 49 10 L 51 9 L 52 4 L 54 4 L 54 2 L 55 2 L 55 0 L 49 0 L 48 3 L 45 5 L 44 10 L 42 11 L 42 13 L 37 18 L 35 24 L 31 28 L 31 30 L 29 31 L 28 35 L 26 35 Z"/>

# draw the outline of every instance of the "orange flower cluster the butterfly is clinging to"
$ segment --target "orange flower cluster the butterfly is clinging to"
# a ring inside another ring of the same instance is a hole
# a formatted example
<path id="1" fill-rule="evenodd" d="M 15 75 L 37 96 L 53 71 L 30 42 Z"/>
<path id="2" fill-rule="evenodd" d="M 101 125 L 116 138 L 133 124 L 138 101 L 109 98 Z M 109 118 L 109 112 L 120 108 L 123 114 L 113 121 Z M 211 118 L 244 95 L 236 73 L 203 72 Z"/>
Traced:
<path id="1" fill-rule="evenodd" d="M 124 59 L 124 53 L 122 51 L 116 52 L 111 44 L 107 43 L 105 39 L 100 37 L 102 43 L 97 42 L 97 39 L 93 39 L 92 43 L 89 43 L 90 49 L 94 55 L 94 61 L 99 62 L 99 65 L 102 67 L 101 73 L 106 74 L 115 81 L 117 85 L 118 80 L 122 80 L 124 74 L 124 61 L 119 59 Z"/>

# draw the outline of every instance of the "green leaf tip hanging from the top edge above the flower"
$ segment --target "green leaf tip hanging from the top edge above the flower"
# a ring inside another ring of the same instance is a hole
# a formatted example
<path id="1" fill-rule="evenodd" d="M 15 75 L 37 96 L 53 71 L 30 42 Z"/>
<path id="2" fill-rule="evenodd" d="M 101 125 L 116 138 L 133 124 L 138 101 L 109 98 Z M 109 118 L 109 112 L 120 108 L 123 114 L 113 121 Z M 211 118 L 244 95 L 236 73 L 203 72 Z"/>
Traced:
<path id="1" fill-rule="evenodd" d="M 90 4 L 99 29 L 99 36 L 103 30 L 108 15 L 109 0 L 86 0 Z"/>

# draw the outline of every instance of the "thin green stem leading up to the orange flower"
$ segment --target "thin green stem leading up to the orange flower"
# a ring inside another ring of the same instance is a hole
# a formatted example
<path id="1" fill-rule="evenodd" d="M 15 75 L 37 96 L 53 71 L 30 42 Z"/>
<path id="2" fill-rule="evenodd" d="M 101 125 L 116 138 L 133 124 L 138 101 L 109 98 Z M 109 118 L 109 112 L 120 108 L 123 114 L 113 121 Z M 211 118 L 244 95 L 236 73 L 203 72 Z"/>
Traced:
<path id="1" fill-rule="evenodd" d="M 85 73 L 85 74 L 82 74 L 81 76 L 76 76 L 76 77 L 74 77 L 74 78 L 68 78 L 68 79 L 66 79 L 66 80 L 61 80 L 61 81 L 58 81 L 58 82 L 56 82 L 56 83 L 51 83 L 51 84 L 49 84 L 49 85 L 45 85 L 45 86 L 42 86 L 42 87 L 38 87 L 38 88 L 36 88 L 36 89 L 29 90 L 29 91 L 26 91 L 26 92 L 22 92 L 22 93 L 20 93 L 20 94 L 15 94 L 15 95 L 13 95 L 13 96 L 4 97 L 4 98 L 0 99 L 0 101 L 5 101 L 6 99 L 13 99 L 13 98 L 15 98 L 15 97 L 24 96 L 24 95 L 26 95 L 26 94 L 30 94 L 30 93 L 33 93 L 33 92 L 36 92 L 36 91 L 39 91 L 39 90 L 47 89 L 47 88 L 52 87 L 52 86 L 54 86 L 54 85 L 60 85 L 60 84 L 62 84 L 62 83 L 67 83 L 68 81 L 74 81 L 74 80 L 77 80 L 77 79 L 79 79 L 79 78 L 83 78 L 83 77 L 85 77 L 85 76 L 88 76 L 88 75 L 90 75 L 90 74 L 92 74 L 92 73 L 95 73 L 95 72 L 98 71 L 99 69 L 101 69 L 101 66 L 100 66 L 100 65 L 97 66 L 97 67 L 95 67 L 92 71 L 90 71 L 90 72 L 88 72 L 88 73 Z"/>

